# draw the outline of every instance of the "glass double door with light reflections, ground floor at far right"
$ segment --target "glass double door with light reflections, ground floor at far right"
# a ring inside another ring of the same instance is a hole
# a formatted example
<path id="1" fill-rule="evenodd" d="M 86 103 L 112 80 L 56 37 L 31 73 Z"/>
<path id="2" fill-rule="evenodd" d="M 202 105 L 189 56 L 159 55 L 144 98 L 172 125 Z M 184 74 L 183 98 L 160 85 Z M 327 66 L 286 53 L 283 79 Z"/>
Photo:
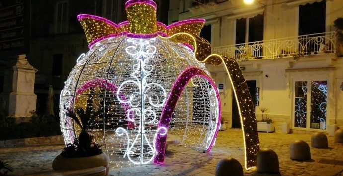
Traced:
<path id="1" fill-rule="evenodd" d="M 294 84 L 294 127 L 326 129 L 327 81 L 304 80 Z"/>

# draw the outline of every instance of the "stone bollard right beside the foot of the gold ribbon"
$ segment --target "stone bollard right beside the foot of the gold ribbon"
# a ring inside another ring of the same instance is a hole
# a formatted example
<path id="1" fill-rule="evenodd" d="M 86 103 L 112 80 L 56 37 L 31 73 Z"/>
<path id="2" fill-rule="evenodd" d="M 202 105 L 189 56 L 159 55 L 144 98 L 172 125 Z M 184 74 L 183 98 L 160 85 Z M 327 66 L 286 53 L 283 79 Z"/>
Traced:
<path id="1" fill-rule="evenodd" d="M 279 158 L 274 150 L 266 148 L 257 152 L 257 172 L 280 173 Z"/>

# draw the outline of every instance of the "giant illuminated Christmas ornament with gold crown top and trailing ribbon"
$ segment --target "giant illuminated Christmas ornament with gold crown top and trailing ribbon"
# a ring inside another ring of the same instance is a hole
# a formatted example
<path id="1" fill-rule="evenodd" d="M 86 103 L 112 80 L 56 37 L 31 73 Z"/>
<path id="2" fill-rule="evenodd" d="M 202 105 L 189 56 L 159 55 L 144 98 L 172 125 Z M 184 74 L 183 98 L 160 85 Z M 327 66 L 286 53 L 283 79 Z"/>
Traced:
<path id="1" fill-rule="evenodd" d="M 61 92 L 65 142 L 80 131 L 65 107 L 80 107 L 102 112 L 89 132 L 117 166 L 163 163 L 171 134 L 185 146 L 210 151 L 221 106 L 205 63 L 224 63 L 238 102 L 246 167 L 254 167 L 259 141 L 249 91 L 236 61 L 211 54 L 198 36 L 205 20 L 166 26 L 156 21 L 152 0 L 128 0 L 125 8 L 128 21 L 120 24 L 78 16 L 90 50 L 77 59 Z"/>

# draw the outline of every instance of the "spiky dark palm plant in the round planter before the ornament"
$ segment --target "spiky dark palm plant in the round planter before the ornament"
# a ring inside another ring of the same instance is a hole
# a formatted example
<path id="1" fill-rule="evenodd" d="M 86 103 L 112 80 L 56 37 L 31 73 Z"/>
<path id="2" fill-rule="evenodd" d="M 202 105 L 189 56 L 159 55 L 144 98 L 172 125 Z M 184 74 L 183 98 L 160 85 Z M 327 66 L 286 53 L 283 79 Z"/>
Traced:
<path id="1" fill-rule="evenodd" d="M 74 122 L 81 128 L 78 138 L 74 139 L 73 144 L 67 144 L 61 153 L 64 157 L 88 157 L 102 153 L 101 146 L 92 142 L 93 136 L 87 132 L 89 124 L 95 121 L 100 112 L 93 112 L 91 109 L 84 111 L 77 108 L 75 111 L 66 110 L 66 115 L 71 117 Z M 80 120 L 79 118 L 80 117 Z"/>

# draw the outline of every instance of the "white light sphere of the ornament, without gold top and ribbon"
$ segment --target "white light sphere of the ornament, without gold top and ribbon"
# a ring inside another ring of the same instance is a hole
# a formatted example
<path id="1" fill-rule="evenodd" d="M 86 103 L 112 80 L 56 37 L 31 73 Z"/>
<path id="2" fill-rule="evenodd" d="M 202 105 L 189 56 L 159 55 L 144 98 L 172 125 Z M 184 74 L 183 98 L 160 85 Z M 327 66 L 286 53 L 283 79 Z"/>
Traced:
<path id="1" fill-rule="evenodd" d="M 102 112 L 88 132 L 94 142 L 104 144 L 103 151 L 117 166 L 152 163 L 161 147 L 155 145 L 158 133 L 177 136 L 179 143 L 198 150 L 209 149 L 220 125 L 218 91 L 211 78 L 203 76 L 194 76 L 184 88 L 174 87 L 190 67 L 210 75 L 192 50 L 171 40 L 123 35 L 97 42 L 77 59 L 61 92 L 65 143 L 80 132 L 65 108 L 81 107 Z M 173 88 L 183 89 L 182 94 L 169 129 L 159 128 Z"/>

